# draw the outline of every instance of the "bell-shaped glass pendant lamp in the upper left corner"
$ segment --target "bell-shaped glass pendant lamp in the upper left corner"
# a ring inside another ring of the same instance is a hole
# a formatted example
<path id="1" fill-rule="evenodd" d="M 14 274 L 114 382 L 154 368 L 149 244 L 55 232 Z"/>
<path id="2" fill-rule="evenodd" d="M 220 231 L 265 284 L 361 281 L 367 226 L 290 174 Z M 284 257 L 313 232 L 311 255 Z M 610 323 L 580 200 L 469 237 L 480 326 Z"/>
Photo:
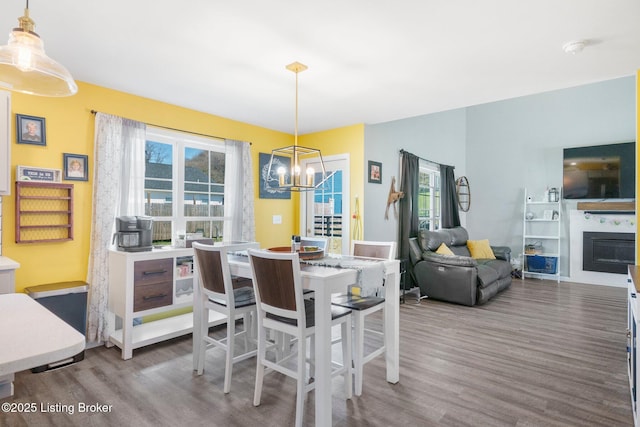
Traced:
<path id="1" fill-rule="evenodd" d="M 69 71 L 49 58 L 44 43 L 33 29 L 29 1 L 19 27 L 9 34 L 9 42 L 0 47 L 0 88 L 40 96 L 71 96 L 78 86 Z"/>

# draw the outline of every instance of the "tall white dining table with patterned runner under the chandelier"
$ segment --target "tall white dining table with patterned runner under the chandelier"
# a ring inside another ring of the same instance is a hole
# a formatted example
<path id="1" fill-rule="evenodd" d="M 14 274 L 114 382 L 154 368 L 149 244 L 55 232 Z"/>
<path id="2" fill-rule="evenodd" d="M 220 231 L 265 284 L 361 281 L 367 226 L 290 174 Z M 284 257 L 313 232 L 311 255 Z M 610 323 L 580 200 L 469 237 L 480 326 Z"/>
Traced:
<path id="1" fill-rule="evenodd" d="M 315 304 L 315 424 L 332 424 L 331 396 L 331 295 L 347 292 L 351 285 L 358 285 L 367 266 L 379 264 L 382 268 L 371 273 L 382 275 L 384 280 L 384 335 L 387 382 L 400 380 L 400 261 L 383 260 L 348 255 L 327 255 L 312 262 L 301 261 L 303 287 L 314 291 Z M 251 278 L 249 258 L 245 253 L 229 254 L 231 274 Z"/>

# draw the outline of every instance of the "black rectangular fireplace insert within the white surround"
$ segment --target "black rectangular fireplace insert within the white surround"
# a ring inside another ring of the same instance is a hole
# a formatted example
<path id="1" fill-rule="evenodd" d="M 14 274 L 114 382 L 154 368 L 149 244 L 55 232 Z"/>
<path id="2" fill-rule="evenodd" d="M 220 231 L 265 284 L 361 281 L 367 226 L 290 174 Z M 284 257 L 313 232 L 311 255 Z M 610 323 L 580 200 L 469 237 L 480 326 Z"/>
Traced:
<path id="1" fill-rule="evenodd" d="M 583 233 L 583 270 L 627 274 L 627 265 L 634 262 L 635 233 Z"/>

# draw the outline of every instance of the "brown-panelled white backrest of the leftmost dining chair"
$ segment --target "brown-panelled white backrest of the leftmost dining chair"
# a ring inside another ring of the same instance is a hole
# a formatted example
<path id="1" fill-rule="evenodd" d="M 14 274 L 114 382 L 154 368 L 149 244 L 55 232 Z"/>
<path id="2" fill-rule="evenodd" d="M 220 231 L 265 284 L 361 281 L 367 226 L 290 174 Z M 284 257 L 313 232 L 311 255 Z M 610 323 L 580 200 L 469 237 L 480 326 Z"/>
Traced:
<path id="1" fill-rule="evenodd" d="M 194 242 L 193 260 L 194 276 L 199 291 L 209 298 L 226 301 L 228 306 L 235 306 L 233 282 L 229 270 L 227 253 L 246 249 L 244 246 L 234 245 L 206 245 Z"/>

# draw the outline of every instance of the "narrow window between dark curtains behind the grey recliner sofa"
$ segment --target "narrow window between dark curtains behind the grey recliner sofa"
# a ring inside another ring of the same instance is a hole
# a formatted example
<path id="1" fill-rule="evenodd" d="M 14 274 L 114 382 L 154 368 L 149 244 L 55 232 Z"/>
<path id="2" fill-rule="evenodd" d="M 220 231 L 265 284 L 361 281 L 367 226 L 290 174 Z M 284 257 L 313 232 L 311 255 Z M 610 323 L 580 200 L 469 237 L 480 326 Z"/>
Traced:
<path id="1" fill-rule="evenodd" d="M 440 167 L 422 160 L 418 173 L 418 219 L 420 228 L 440 228 Z"/>

